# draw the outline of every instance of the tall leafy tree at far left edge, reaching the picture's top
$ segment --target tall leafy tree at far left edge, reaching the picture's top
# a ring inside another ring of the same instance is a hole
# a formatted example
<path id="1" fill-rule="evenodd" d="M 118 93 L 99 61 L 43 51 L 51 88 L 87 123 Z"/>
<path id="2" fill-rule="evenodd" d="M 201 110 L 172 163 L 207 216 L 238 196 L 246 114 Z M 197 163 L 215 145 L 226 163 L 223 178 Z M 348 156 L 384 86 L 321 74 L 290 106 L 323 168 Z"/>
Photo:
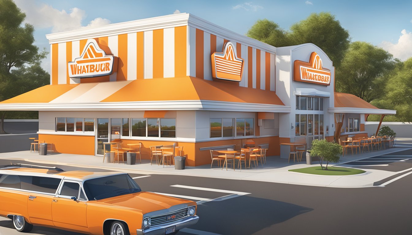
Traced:
<path id="1" fill-rule="evenodd" d="M 12 0 L 0 0 L 0 100 L 21 94 L 12 93 L 16 89 L 24 90 L 18 87 L 15 77 L 10 75 L 13 68 L 33 65 L 47 55 L 46 51 L 39 52 L 39 48 L 34 45 L 33 26 L 28 23 L 22 26 L 25 18 L 26 14 Z M 0 134 L 5 133 L 5 115 L 6 111 L 0 111 Z"/>

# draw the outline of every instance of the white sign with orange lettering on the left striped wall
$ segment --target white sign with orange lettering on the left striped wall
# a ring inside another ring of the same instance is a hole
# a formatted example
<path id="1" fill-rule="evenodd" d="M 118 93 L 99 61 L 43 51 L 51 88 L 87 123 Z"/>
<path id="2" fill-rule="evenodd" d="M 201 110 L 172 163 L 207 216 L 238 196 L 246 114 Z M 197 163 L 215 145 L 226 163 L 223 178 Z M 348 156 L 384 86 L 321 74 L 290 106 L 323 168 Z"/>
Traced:
<path id="1" fill-rule="evenodd" d="M 69 77 L 101 77 L 112 74 L 115 64 L 114 56 L 106 56 L 94 39 L 87 40 L 80 58 L 68 63 Z M 117 58 L 116 58 L 117 59 Z"/>

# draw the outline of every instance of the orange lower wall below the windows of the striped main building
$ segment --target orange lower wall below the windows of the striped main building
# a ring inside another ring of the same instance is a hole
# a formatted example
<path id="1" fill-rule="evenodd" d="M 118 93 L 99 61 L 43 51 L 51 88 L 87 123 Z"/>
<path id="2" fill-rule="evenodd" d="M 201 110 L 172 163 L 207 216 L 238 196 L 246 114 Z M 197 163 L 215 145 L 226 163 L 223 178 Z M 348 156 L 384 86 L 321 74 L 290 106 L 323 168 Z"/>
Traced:
<path id="1" fill-rule="evenodd" d="M 269 143 L 267 156 L 279 156 L 280 145 L 279 136 L 274 137 L 255 137 L 256 146 L 259 144 Z M 78 135 L 42 135 L 39 134 L 39 140 L 44 140 L 46 143 L 53 143 L 53 150 L 64 154 L 83 154 L 94 155 L 95 137 L 94 136 L 78 136 Z M 122 140 L 122 145 L 142 143 L 141 157 L 142 159 L 150 159 L 150 146 L 171 145 L 173 142 L 165 141 L 147 141 L 147 140 Z M 200 151 L 199 148 L 221 146 L 235 144 L 236 149 L 244 146 L 246 139 L 239 140 L 217 140 L 199 143 L 176 142 L 177 146 L 183 147 L 183 155 L 187 155 L 186 165 L 198 166 L 211 164 L 210 151 Z"/>

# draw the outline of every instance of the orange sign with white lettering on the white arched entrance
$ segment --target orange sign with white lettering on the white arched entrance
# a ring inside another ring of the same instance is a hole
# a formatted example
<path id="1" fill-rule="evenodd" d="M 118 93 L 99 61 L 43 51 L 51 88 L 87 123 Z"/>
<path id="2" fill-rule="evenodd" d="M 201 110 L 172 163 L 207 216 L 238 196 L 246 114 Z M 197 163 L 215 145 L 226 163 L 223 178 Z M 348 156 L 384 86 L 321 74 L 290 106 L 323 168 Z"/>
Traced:
<path id="1" fill-rule="evenodd" d="M 312 52 L 309 63 L 295 60 L 293 80 L 329 86 L 330 70 L 323 68 L 321 57 L 316 52 Z"/>

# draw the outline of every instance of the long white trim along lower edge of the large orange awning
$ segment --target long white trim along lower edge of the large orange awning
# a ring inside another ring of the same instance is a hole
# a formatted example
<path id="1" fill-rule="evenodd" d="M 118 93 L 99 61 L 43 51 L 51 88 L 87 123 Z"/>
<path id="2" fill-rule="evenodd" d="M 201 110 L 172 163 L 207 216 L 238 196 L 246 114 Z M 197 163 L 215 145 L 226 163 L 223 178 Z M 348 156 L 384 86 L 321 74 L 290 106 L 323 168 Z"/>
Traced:
<path id="1" fill-rule="evenodd" d="M 101 111 L 101 110 L 212 110 L 233 112 L 289 113 L 290 106 L 225 102 L 214 100 L 171 100 L 139 102 L 87 102 L 87 103 L 5 103 L 0 110 L 33 111 Z"/>

